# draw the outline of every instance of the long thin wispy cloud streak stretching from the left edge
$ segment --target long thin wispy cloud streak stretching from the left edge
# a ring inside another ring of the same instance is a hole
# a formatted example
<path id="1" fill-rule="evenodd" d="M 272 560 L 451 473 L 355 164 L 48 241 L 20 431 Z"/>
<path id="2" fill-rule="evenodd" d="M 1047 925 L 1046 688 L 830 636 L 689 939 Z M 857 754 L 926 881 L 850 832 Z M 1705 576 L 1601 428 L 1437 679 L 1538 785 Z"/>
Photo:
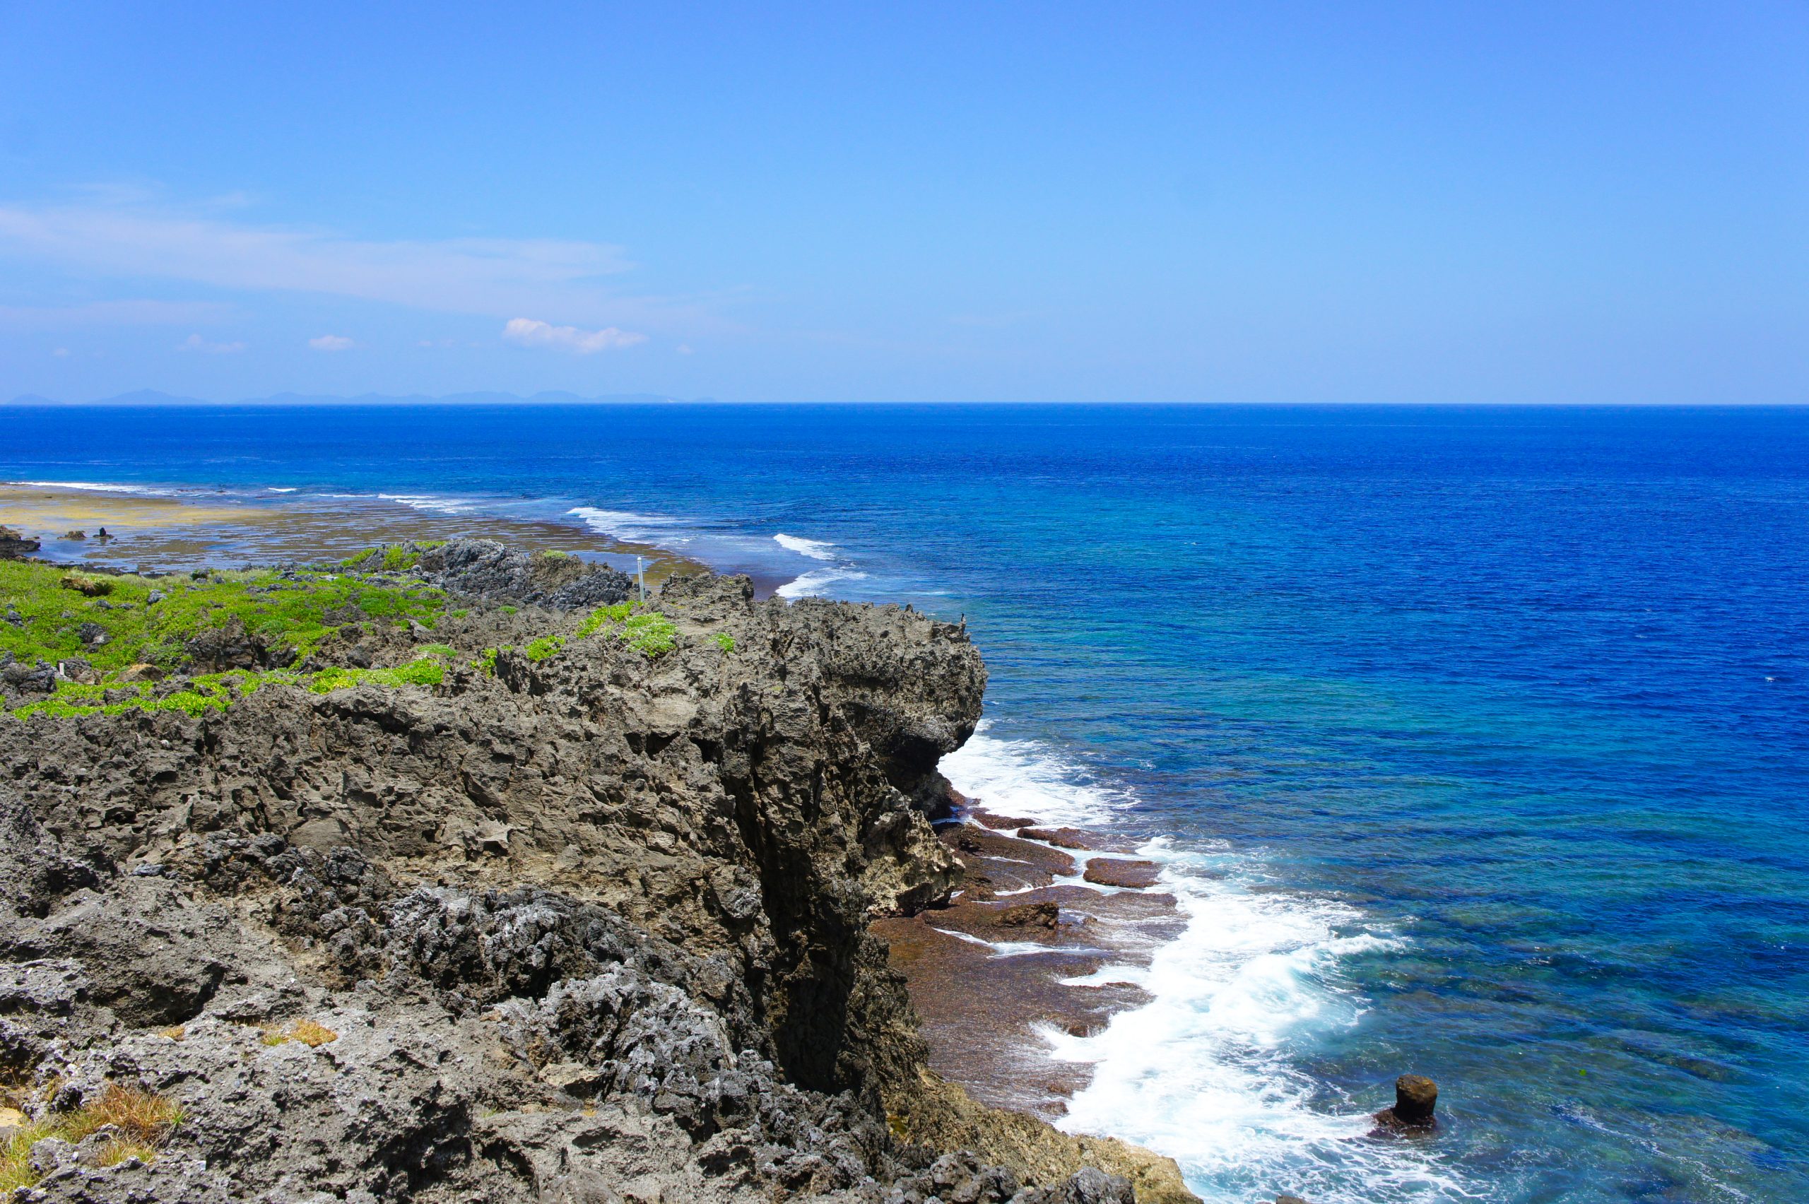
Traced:
<path id="1" fill-rule="evenodd" d="M 250 226 L 157 208 L 139 195 L 71 206 L 0 204 L 0 251 L 114 277 L 289 289 L 508 316 L 554 309 L 619 322 L 666 302 L 611 296 L 617 246 L 557 239 L 367 240 L 327 230 Z"/>

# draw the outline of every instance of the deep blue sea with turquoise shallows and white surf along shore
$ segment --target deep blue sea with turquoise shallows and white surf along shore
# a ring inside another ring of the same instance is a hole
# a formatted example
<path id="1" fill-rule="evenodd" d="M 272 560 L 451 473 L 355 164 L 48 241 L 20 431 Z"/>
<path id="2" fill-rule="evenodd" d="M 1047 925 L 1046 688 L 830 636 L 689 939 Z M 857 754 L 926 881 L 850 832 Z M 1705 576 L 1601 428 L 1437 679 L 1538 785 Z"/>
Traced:
<path id="1" fill-rule="evenodd" d="M 1069 1124 L 1214 1202 L 1809 1199 L 1809 409 L 9 409 L 0 477 L 964 615 L 957 785 L 1183 886 Z M 1444 1132 L 1368 1139 L 1406 1070 Z"/>

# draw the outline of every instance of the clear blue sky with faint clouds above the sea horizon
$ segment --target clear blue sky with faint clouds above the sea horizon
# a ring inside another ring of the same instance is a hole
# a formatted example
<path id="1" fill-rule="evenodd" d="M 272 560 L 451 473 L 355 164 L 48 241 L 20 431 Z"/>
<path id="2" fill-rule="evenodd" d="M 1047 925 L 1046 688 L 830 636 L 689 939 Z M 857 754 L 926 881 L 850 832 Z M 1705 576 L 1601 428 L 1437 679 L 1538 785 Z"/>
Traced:
<path id="1" fill-rule="evenodd" d="M 1809 401 L 1809 5 L 0 2 L 0 394 Z"/>

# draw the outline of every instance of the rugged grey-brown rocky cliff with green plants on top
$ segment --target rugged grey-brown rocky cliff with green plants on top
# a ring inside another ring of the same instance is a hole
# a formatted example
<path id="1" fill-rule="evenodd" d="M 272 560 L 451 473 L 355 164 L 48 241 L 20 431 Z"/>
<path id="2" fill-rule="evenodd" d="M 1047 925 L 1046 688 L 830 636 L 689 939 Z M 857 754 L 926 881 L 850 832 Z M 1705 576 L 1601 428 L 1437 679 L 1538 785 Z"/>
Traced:
<path id="1" fill-rule="evenodd" d="M 233 584 L 266 609 L 165 638 L 156 687 L 107 662 L 136 578 L 56 598 L 58 638 L 103 629 L 92 683 L 13 656 L 20 1199 L 1192 1199 L 933 1070 L 894 929 L 1060 936 L 1071 889 L 986 900 L 1002 870 L 932 824 L 986 683 L 961 627 L 711 575 L 637 607 L 479 544 Z M 336 613 L 306 656 L 259 627 L 347 580 L 420 615 Z"/>

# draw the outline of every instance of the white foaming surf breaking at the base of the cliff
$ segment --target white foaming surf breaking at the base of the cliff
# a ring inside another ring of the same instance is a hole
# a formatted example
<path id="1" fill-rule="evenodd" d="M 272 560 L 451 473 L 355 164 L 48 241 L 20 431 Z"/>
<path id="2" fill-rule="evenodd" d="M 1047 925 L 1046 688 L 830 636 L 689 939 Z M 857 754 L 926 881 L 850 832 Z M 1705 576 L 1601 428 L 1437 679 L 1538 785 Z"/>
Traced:
<path id="1" fill-rule="evenodd" d="M 986 810 L 1049 824 L 1109 826 L 1136 803 L 1046 745 L 999 739 L 986 723 L 941 768 Z M 1053 1058 L 1093 1067 L 1062 1128 L 1174 1157 L 1208 1204 L 1281 1191 L 1315 1204 L 1482 1199 L 1440 1164 L 1433 1143 L 1364 1141 L 1366 1112 L 1297 1068 L 1362 1016 L 1342 964 L 1400 942 L 1369 931 L 1346 904 L 1254 889 L 1264 877 L 1254 853 L 1158 839 L 1138 855 L 1161 862 L 1160 889 L 1176 897 L 1187 926 L 1147 967 L 1102 965 L 1071 980 L 1132 982 L 1149 1003 L 1093 1036 L 1038 1029 Z"/>

